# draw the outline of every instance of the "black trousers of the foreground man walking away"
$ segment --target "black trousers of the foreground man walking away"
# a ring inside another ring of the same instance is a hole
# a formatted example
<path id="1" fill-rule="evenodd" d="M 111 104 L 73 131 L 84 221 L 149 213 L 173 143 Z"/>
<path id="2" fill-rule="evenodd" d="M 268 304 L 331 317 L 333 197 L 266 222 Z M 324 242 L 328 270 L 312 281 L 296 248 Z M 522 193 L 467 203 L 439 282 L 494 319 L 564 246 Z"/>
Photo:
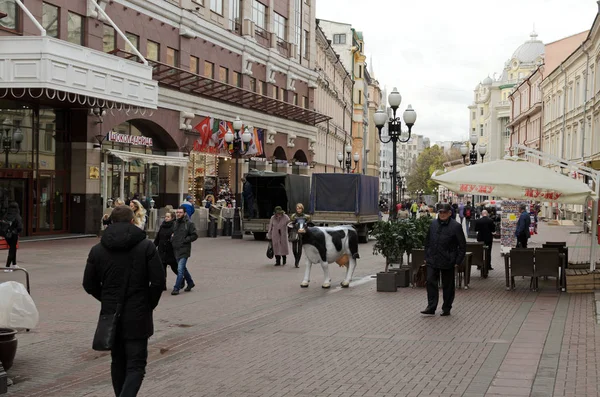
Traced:
<path id="1" fill-rule="evenodd" d="M 122 339 L 117 336 L 111 356 L 110 374 L 115 396 L 137 396 L 146 374 L 148 338 Z"/>

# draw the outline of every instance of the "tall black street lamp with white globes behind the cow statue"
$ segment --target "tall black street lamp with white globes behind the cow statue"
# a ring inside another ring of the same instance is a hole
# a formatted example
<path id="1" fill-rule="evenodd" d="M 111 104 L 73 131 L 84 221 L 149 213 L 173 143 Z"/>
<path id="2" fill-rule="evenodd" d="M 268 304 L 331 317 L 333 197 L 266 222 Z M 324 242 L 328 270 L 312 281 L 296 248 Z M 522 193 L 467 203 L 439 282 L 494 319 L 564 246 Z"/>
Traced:
<path id="1" fill-rule="evenodd" d="M 390 95 L 388 96 L 388 103 L 393 111 L 393 116 L 388 120 L 388 114 L 385 110 L 380 108 L 373 115 L 373 121 L 375 121 L 375 126 L 379 132 L 379 140 L 383 143 L 392 142 L 392 168 L 394 172 L 392 172 L 392 191 L 396 192 L 396 144 L 398 141 L 402 143 L 406 143 L 410 140 L 410 133 L 413 125 L 417 121 L 417 113 L 413 110 L 411 105 L 408 105 L 408 108 L 404 111 L 402 118 L 408 127 L 408 134 L 404 135 L 402 131 L 402 121 L 400 117 L 396 117 L 396 111 L 400 107 L 400 103 L 402 102 L 402 95 L 398 92 L 398 89 L 394 87 Z M 381 129 L 384 127 L 386 121 L 388 122 L 388 139 L 384 140 L 381 136 Z M 403 136 L 404 135 L 404 136 Z M 392 195 L 392 208 L 396 208 L 396 195 Z M 396 212 L 392 211 L 391 220 L 396 219 Z"/>

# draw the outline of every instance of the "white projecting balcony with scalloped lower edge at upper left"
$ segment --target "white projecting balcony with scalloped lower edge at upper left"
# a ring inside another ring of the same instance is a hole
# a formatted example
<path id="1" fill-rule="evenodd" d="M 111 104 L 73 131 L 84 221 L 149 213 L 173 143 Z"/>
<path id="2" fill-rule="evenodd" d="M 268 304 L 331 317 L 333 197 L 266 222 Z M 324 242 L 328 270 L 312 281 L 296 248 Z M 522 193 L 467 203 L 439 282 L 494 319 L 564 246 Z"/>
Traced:
<path id="1" fill-rule="evenodd" d="M 47 36 L 0 37 L 0 95 L 2 89 L 81 106 L 158 104 L 151 66 Z"/>

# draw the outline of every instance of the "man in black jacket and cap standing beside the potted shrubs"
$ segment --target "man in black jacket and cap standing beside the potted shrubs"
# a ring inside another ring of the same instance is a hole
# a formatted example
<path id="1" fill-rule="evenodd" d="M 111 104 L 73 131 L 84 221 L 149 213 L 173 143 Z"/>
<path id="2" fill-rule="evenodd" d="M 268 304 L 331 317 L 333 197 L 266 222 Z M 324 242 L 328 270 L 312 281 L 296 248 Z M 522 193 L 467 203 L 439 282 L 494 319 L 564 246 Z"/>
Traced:
<path id="1" fill-rule="evenodd" d="M 452 207 L 444 203 L 438 210 L 438 218 L 431 222 L 425 238 L 425 262 L 427 264 L 427 308 L 421 313 L 434 315 L 440 292 L 438 280 L 442 277 L 444 303 L 442 316 L 449 316 L 454 301 L 454 266 L 465 258 L 467 241 L 462 226 L 451 219 Z"/>

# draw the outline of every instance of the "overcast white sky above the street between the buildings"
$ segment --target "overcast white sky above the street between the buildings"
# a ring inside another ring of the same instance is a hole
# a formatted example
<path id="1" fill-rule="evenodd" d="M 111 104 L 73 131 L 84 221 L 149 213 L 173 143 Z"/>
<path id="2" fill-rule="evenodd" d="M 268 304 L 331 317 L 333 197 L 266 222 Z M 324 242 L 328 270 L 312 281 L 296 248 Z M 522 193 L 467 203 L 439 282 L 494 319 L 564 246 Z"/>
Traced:
<path id="1" fill-rule="evenodd" d="M 417 111 L 413 132 L 432 142 L 466 139 L 475 86 L 533 30 L 544 43 L 588 30 L 594 0 L 317 0 L 317 18 L 362 31 L 375 77 L 398 87 L 403 111 Z"/>

